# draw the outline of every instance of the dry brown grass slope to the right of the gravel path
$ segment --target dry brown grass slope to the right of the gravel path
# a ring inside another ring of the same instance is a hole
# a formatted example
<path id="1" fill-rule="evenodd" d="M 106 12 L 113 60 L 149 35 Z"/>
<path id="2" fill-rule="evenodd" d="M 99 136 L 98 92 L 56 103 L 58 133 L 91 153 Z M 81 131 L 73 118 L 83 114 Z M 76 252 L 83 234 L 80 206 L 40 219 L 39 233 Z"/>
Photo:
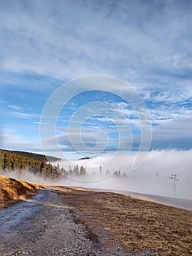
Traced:
<path id="1" fill-rule="evenodd" d="M 58 194 L 130 252 L 150 248 L 158 255 L 192 255 L 191 211 L 111 192 L 60 189 Z"/>

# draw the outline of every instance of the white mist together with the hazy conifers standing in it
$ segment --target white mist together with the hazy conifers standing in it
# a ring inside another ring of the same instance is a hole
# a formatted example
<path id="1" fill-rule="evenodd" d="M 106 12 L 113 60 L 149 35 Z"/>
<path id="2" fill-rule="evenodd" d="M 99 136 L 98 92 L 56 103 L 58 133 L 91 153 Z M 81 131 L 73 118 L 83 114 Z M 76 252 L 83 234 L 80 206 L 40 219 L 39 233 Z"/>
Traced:
<path id="1" fill-rule="evenodd" d="M 39 171 L 31 171 L 27 167 L 22 171 L 19 168 L 3 170 L 1 167 L 0 174 L 37 184 L 118 189 L 192 199 L 191 153 L 191 150 L 150 151 L 145 161 L 135 171 L 131 169 L 135 160 L 134 154 L 129 155 L 127 162 L 118 171 L 111 165 L 111 156 L 104 154 L 93 159 L 71 162 L 69 160 L 39 162 Z M 34 162 L 31 162 L 34 165 Z M 116 156 L 115 162 L 120 166 L 123 157 Z M 172 173 L 180 178 L 180 181 L 175 181 L 175 187 L 174 182 L 169 178 Z"/>

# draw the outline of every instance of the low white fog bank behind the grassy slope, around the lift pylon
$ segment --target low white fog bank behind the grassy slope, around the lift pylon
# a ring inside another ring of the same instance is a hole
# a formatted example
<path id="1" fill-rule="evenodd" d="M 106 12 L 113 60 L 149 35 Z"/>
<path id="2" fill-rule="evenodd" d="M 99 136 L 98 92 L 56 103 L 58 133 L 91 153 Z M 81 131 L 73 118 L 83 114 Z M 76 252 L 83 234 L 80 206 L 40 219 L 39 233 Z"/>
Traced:
<path id="1" fill-rule="evenodd" d="M 192 200 L 192 150 L 189 151 L 151 151 L 145 162 L 136 171 L 131 171 L 131 166 L 134 162 L 135 155 L 128 157 L 128 162 L 121 166 L 120 172 L 126 173 L 127 176 L 108 176 L 106 170 L 110 173 L 115 172 L 114 165 L 110 166 L 110 155 L 96 157 L 94 159 L 82 159 L 69 163 L 67 161 L 55 162 L 53 165 L 59 163 L 60 167 L 69 169 L 69 165 L 83 165 L 86 167 L 88 176 L 78 176 L 77 178 L 64 178 L 58 181 L 57 184 L 79 186 L 88 188 L 102 188 L 102 189 L 118 189 L 130 192 L 147 193 L 153 195 L 164 195 L 169 197 L 183 197 Z M 117 165 L 123 161 L 122 157 L 116 156 L 115 162 Z M 108 164 L 106 164 L 108 162 Z M 106 165 L 104 165 L 106 164 Z M 102 170 L 100 170 L 100 167 Z M 103 167 L 104 166 L 104 167 Z M 93 176 L 92 173 L 95 172 Z M 180 181 L 174 181 L 169 178 L 172 173 L 177 174 Z M 39 180 L 31 173 L 25 173 L 21 177 L 17 177 L 16 173 L 11 173 L 12 178 L 20 178 L 26 181 L 45 184 L 47 181 Z M 103 177 L 103 178 L 102 178 Z M 86 180 L 86 181 L 80 181 Z M 100 179 L 100 180 L 99 180 Z M 50 183 L 49 183 L 50 184 Z"/>

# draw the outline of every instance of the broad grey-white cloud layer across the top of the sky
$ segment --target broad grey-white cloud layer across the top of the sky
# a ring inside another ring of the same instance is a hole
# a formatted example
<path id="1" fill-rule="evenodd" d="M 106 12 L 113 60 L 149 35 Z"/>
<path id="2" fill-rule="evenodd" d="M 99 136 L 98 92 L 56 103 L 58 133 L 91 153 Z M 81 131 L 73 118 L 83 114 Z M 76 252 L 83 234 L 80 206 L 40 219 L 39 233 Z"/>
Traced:
<path id="1" fill-rule="evenodd" d="M 4 68 L 61 79 L 101 73 L 136 81 L 139 76 L 154 76 L 154 66 L 176 73 L 175 66 L 188 68 L 191 63 L 185 54 L 191 51 L 191 5 L 188 11 L 185 5 L 49 1 L 31 2 L 25 8 L 22 1 L 1 4 Z"/>

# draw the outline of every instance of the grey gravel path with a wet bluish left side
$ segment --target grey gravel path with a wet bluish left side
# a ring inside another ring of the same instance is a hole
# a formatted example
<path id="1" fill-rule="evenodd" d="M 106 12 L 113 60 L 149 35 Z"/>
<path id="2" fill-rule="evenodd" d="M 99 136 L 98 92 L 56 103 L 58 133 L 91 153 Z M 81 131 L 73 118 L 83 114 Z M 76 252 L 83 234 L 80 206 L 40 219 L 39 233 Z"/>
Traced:
<path id="1" fill-rule="evenodd" d="M 39 195 L 0 211 L 0 255 L 128 255 L 107 231 L 91 233 L 77 214 L 57 194 L 40 189 Z"/>

